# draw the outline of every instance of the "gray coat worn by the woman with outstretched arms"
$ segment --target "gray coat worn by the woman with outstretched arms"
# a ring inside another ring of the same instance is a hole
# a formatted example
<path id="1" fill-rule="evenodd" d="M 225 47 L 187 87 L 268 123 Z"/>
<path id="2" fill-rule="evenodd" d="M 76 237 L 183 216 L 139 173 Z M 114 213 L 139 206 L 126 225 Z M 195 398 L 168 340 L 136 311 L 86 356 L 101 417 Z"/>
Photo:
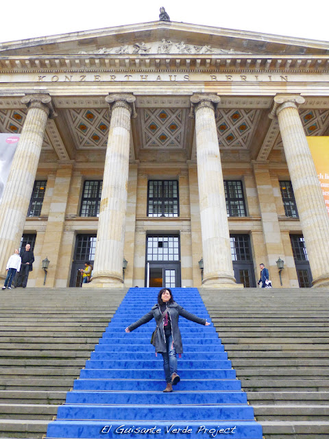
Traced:
<path id="1" fill-rule="evenodd" d="M 180 329 L 178 327 L 178 318 L 180 316 L 191 320 L 192 322 L 196 322 L 199 324 L 206 324 L 206 320 L 204 318 L 199 318 L 194 314 L 189 313 L 178 305 L 178 303 L 173 302 L 167 305 L 168 312 L 171 320 L 171 332 L 173 334 L 173 345 L 175 346 L 175 351 L 178 354 L 183 353 L 183 345 L 182 345 L 182 336 L 180 335 Z M 134 329 L 140 327 L 142 324 L 149 322 L 152 318 L 156 319 L 156 324 L 158 325 L 162 319 L 162 313 L 160 311 L 160 305 L 158 303 L 154 305 L 154 307 L 149 311 L 149 313 L 145 314 L 145 316 L 141 317 L 136 322 L 132 323 L 128 329 L 130 331 L 134 331 Z M 151 338 L 151 334 L 149 334 Z M 166 338 L 164 337 L 164 324 L 160 324 L 158 331 L 156 331 L 156 352 L 166 352 Z"/>

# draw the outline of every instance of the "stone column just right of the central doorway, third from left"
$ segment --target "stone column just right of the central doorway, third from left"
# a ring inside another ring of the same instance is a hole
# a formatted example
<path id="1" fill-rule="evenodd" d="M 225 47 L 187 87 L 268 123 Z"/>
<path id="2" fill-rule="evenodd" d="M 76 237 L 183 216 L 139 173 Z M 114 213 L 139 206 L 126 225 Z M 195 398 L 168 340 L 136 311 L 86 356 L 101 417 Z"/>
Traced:
<path id="1" fill-rule="evenodd" d="M 216 95 L 193 95 L 197 145 L 197 180 L 204 259 L 203 287 L 238 286 L 233 274 L 230 233 L 217 139 Z"/>

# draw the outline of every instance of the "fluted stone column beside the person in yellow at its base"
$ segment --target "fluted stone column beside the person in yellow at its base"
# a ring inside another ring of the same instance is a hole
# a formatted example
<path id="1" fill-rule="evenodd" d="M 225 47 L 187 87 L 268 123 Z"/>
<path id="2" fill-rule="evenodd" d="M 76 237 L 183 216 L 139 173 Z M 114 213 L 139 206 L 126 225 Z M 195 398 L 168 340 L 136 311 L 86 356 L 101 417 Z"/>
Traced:
<path id="1" fill-rule="evenodd" d="M 93 280 L 88 287 L 123 287 L 123 246 L 130 150 L 130 118 L 136 97 L 109 95 L 111 121 L 101 191 Z"/>

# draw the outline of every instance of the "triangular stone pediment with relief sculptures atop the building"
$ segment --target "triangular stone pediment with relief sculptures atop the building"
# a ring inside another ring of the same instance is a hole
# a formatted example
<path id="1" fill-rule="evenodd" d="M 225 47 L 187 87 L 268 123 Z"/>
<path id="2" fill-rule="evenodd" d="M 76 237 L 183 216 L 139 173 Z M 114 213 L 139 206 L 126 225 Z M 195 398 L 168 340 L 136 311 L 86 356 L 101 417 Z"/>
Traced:
<path id="1" fill-rule="evenodd" d="M 0 44 L 0 55 L 324 55 L 329 43 L 258 32 L 156 21 Z"/>

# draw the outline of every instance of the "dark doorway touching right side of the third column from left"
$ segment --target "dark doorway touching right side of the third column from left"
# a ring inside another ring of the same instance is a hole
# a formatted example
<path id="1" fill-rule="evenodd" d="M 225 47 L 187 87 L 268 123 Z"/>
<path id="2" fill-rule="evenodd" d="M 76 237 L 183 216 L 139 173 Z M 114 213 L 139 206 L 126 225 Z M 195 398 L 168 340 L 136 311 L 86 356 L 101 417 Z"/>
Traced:
<path id="1" fill-rule="evenodd" d="M 243 283 L 245 288 L 256 287 L 249 235 L 230 235 L 230 242 L 236 283 Z"/>

